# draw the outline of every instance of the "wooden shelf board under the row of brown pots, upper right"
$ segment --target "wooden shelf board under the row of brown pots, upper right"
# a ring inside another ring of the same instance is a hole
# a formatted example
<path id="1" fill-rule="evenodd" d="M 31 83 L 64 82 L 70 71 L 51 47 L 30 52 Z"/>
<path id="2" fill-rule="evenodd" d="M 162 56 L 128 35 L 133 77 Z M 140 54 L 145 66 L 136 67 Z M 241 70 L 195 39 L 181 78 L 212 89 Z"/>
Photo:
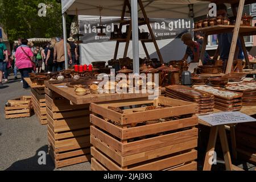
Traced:
<path id="1" fill-rule="evenodd" d="M 206 32 L 208 35 L 213 34 L 221 34 L 226 32 L 233 32 L 234 31 L 234 25 L 216 25 L 216 26 L 210 26 L 210 27 L 204 27 L 204 28 L 196 28 L 193 31 L 202 31 Z M 250 26 L 240 26 L 240 34 L 242 36 L 250 36 L 250 35 L 256 35 L 256 27 L 250 27 Z"/>

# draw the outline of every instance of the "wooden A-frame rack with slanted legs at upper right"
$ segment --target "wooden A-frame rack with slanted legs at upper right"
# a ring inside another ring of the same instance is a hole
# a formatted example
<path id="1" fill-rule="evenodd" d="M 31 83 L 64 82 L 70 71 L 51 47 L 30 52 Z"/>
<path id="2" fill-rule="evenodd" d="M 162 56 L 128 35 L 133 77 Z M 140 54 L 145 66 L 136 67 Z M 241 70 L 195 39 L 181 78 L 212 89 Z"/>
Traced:
<path id="1" fill-rule="evenodd" d="M 203 1 L 210 1 L 210 0 L 203 0 Z M 212 2 L 212 1 L 210 1 L 210 2 Z M 200 60 L 204 59 L 204 53 L 205 53 L 205 49 L 206 49 L 207 43 L 208 43 L 208 35 L 233 32 L 232 44 L 230 47 L 228 64 L 226 67 L 226 74 L 228 74 L 232 71 L 232 64 L 233 64 L 234 55 L 235 55 L 235 51 L 236 51 L 236 47 L 237 47 L 238 36 L 241 40 L 241 46 L 242 46 L 243 54 L 245 56 L 246 65 L 250 64 L 246 46 L 245 46 L 245 40 L 243 39 L 243 36 L 256 35 L 256 27 L 240 26 L 240 23 L 241 23 L 241 19 L 242 19 L 243 6 L 246 4 L 250 4 L 253 1 L 250 1 L 250 0 L 247 0 L 247 1 L 245 1 L 245 0 L 224 1 L 224 0 L 222 0 L 222 1 L 213 1 L 213 2 L 230 3 L 232 5 L 233 13 L 234 14 L 237 13 L 236 25 L 235 26 L 225 26 L 225 25 L 210 26 L 210 27 L 204 27 L 204 28 L 197 28 L 193 31 L 205 32 L 203 47 L 202 47 L 202 51 L 201 51 L 201 55 L 200 55 Z M 236 11 L 236 6 L 238 3 L 239 3 L 238 11 Z M 199 65 L 202 65 L 201 61 L 199 61 Z"/>

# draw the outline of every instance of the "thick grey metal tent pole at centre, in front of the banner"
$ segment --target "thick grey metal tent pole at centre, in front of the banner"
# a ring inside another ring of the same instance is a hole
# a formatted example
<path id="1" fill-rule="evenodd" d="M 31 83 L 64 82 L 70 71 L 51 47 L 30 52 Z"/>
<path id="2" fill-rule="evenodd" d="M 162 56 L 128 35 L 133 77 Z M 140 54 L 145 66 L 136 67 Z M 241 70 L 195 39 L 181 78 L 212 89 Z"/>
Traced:
<path id="1" fill-rule="evenodd" d="M 131 24 L 133 27 L 133 72 L 139 74 L 138 0 L 131 0 Z"/>

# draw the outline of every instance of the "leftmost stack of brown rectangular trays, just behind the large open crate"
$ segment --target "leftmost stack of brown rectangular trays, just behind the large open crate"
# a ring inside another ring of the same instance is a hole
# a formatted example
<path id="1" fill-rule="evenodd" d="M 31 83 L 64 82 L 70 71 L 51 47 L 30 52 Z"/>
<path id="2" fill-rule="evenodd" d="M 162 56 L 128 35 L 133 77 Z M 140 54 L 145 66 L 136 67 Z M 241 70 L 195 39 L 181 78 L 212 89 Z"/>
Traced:
<path id="1" fill-rule="evenodd" d="M 199 104 L 199 114 L 213 113 L 214 95 L 200 90 L 195 90 L 183 85 L 171 85 L 166 87 L 166 97 Z"/>

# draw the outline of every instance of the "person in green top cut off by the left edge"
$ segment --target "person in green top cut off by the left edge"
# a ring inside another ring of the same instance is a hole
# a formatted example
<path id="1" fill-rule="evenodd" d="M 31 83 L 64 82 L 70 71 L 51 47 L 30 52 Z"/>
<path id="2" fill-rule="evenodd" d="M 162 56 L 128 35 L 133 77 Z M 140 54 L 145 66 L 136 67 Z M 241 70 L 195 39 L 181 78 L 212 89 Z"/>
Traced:
<path id="1" fill-rule="evenodd" d="M 6 72 L 7 62 L 9 61 L 9 56 L 5 43 L 0 39 L 0 86 L 2 86 L 3 72 Z"/>

